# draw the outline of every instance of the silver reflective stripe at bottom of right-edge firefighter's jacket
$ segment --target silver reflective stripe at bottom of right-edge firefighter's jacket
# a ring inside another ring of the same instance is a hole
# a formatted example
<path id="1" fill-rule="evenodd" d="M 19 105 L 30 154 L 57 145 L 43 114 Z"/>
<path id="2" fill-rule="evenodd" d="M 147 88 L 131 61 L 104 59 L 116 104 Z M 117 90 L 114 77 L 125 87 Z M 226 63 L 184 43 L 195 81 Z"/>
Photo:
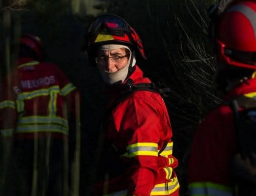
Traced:
<path id="1" fill-rule="evenodd" d="M 218 195 L 218 196 L 232 196 L 232 192 L 227 192 L 220 189 L 209 187 L 191 187 L 190 194 L 193 195 Z"/>

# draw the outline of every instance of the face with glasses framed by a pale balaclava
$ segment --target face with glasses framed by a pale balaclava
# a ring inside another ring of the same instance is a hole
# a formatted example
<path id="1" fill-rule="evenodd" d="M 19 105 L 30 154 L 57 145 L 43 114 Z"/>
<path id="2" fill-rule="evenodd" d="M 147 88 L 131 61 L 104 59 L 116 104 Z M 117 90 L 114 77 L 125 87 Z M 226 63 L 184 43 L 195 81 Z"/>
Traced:
<path id="1" fill-rule="evenodd" d="M 100 70 L 114 73 L 122 69 L 129 60 L 129 56 L 124 48 L 119 48 L 111 51 L 98 51 L 97 66 Z"/>

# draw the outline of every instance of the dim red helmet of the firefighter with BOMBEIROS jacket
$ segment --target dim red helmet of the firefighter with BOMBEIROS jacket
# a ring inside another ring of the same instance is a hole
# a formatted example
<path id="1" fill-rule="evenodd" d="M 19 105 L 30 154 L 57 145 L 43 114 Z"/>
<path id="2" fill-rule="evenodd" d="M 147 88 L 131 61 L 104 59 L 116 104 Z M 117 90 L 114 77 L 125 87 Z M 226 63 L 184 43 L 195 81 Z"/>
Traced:
<path id="1" fill-rule="evenodd" d="M 28 46 L 35 52 L 38 60 L 42 60 L 43 46 L 41 39 L 38 36 L 32 34 L 22 35 L 20 38 L 20 44 Z"/>

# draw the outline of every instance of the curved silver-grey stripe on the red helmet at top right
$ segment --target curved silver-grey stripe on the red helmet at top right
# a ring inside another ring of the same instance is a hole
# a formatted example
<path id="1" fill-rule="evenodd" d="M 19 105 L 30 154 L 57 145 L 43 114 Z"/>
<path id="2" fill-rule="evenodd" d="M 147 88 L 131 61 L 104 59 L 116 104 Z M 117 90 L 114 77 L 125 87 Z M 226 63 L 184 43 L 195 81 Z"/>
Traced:
<path id="1" fill-rule="evenodd" d="M 254 35 L 256 38 L 256 20 L 255 20 L 256 12 L 252 8 L 243 4 L 239 4 L 239 5 L 232 6 L 230 9 L 228 9 L 227 12 L 240 12 L 244 14 L 244 16 L 246 16 L 246 18 L 250 21 L 254 29 Z"/>

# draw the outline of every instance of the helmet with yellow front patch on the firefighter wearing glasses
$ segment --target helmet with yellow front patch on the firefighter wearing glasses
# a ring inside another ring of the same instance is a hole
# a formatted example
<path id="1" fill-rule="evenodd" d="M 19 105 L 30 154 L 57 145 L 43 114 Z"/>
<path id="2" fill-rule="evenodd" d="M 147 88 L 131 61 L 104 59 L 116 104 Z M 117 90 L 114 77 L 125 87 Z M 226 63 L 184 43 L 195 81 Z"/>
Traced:
<path id="1" fill-rule="evenodd" d="M 95 64 L 97 47 L 103 44 L 121 44 L 132 47 L 137 59 L 146 59 L 139 35 L 124 19 L 113 14 L 97 17 L 90 24 L 85 39 L 85 49 L 92 65 Z"/>

